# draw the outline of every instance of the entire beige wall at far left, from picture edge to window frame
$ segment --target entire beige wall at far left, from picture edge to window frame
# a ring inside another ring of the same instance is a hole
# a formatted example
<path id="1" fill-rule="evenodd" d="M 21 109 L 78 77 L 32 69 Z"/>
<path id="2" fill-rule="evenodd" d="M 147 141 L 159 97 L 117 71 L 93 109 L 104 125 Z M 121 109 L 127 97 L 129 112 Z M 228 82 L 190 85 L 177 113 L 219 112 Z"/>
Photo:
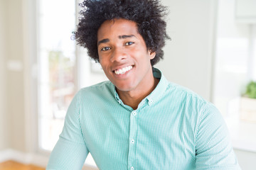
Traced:
<path id="1" fill-rule="evenodd" d="M 23 83 L 23 0 L 1 0 L 0 149 L 25 149 Z M 3 95 L 2 95 L 3 94 Z"/>

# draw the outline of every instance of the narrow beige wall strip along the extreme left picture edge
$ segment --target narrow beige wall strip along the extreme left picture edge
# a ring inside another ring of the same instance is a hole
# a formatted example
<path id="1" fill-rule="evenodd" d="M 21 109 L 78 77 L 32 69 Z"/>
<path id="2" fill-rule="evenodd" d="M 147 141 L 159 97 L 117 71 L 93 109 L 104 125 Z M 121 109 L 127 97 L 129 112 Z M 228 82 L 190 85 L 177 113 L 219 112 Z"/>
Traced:
<path id="1" fill-rule="evenodd" d="M 6 40 L 6 1 L 0 0 L 0 150 L 8 146 L 6 137 L 6 86 L 5 86 L 5 40 Z"/>

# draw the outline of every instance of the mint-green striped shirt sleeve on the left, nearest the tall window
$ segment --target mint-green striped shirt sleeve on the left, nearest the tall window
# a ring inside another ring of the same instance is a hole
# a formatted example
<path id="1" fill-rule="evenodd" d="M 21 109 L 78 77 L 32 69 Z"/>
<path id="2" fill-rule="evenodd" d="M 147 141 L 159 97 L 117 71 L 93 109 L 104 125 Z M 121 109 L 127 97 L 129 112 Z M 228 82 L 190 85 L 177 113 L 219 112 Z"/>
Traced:
<path id="1" fill-rule="evenodd" d="M 50 154 L 46 169 L 82 169 L 88 149 L 80 126 L 79 108 L 80 94 L 78 92 L 68 108 L 63 132 L 61 132 L 59 140 Z"/>

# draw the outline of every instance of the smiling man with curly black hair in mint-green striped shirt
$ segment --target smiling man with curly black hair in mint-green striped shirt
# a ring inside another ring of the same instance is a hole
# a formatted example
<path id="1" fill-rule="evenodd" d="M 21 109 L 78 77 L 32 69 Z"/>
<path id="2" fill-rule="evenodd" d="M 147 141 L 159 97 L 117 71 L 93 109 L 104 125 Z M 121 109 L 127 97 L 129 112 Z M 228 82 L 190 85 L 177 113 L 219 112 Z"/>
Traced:
<path id="1" fill-rule="evenodd" d="M 240 169 L 213 104 L 167 81 L 166 8 L 154 0 L 85 0 L 76 40 L 110 81 L 81 89 L 47 169 Z"/>

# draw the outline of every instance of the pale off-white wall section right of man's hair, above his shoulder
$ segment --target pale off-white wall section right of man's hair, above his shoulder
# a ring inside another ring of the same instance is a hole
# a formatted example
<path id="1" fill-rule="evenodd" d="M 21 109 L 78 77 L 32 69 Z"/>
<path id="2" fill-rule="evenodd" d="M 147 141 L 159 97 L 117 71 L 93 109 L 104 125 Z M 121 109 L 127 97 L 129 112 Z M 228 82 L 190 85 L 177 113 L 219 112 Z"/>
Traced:
<path id="1" fill-rule="evenodd" d="M 164 0 L 169 6 L 167 29 L 159 67 L 169 81 L 211 100 L 216 1 Z"/>

